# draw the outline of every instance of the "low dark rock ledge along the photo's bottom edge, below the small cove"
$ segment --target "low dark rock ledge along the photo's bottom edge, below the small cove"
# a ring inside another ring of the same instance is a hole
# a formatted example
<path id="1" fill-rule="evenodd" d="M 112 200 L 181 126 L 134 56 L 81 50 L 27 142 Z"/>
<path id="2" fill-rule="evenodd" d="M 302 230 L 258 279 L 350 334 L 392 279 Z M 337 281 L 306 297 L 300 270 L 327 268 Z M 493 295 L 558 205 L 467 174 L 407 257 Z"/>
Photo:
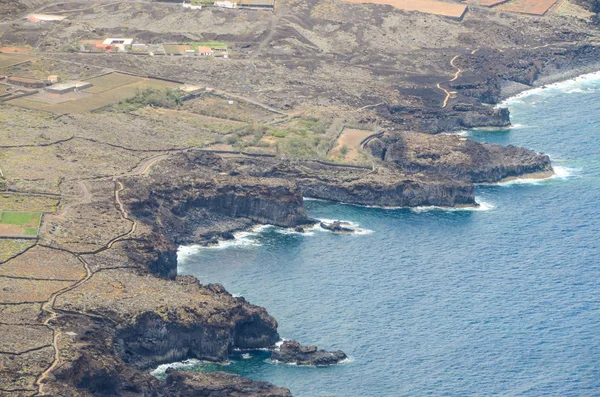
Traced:
<path id="1" fill-rule="evenodd" d="M 288 389 L 226 372 L 167 370 L 165 392 L 179 397 L 291 397 Z"/>

